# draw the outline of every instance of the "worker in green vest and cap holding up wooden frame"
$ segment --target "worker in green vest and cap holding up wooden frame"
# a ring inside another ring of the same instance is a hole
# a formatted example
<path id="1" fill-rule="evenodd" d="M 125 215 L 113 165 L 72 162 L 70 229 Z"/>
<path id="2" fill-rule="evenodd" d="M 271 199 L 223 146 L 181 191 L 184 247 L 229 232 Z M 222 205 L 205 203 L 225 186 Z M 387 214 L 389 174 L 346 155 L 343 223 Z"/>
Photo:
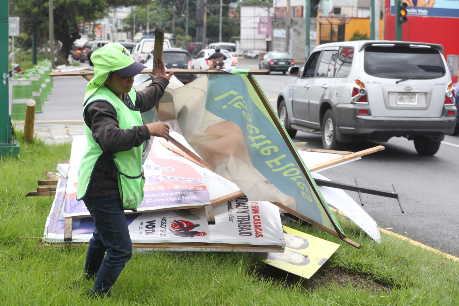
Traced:
<path id="1" fill-rule="evenodd" d="M 132 256 L 132 242 L 124 210 L 137 210 L 145 179 L 142 150 L 151 136 L 168 140 L 162 122 L 144 124 L 141 112 L 150 110 L 164 94 L 173 72 L 156 61 L 156 77 L 136 92 L 134 76 L 144 65 L 135 62 L 119 43 L 109 43 L 88 54 L 94 78 L 84 96 L 86 145 L 78 171 L 77 199 L 94 218 L 84 273 L 95 279 L 90 296 L 108 296 Z"/>

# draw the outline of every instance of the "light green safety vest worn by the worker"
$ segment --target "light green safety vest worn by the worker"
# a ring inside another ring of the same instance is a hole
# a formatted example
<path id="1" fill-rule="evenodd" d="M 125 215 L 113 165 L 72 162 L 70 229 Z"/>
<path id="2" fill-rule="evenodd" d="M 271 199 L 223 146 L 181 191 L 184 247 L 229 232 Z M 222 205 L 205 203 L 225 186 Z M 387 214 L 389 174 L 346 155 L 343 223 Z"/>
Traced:
<path id="1" fill-rule="evenodd" d="M 136 92 L 134 88 L 129 92 L 131 101 L 135 102 Z M 116 96 L 108 87 L 101 86 L 86 102 L 84 109 L 91 102 L 105 101 L 112 105 L 117 114 L 119 127 L 121 129 L 131 129 L 136 125 L 143 125 L 140 117 L 140 109 L 129 108 L 118 96 Z M 95 142 L 92 132 L 86 123 L 84 131 L 88 144 L 86 145 L 81 158 L 80 168 L 78 170 L 77 200 L 86 196 L 90 179 L 93 175 L 97 161 L 104 157 L 112 159 L 115 163 L 115 169 L 118 173 L 118 188 L 121 196 L 121 203 L 126 210 L 137 210 L 139 204 L 143 201 L 143 187 L 145 179 L 142 176 L 142 150 L 143 146 L 133 147 L 129 151 L 121 151 L 111 156 L 102 151 L 101 146 Z M 104 167 L 105 169 L 105 167 Z M 103 173 L 102 173 L 103 174 Z M 97 180 L 97 178 L 95 178 Z"/>

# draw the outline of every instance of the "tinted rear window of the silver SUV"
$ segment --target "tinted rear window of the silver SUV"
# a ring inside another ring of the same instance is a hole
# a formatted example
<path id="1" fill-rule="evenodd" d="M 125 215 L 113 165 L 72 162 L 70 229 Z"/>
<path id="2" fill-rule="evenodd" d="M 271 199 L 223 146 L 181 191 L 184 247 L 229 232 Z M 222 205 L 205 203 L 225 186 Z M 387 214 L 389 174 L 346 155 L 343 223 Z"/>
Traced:
<path id="1" fill-rule="evenodd" d="M 414 46 L 368 46 L 364 70 L 386 79 L 437 79 L 446 73 L 437 49 Z"/>

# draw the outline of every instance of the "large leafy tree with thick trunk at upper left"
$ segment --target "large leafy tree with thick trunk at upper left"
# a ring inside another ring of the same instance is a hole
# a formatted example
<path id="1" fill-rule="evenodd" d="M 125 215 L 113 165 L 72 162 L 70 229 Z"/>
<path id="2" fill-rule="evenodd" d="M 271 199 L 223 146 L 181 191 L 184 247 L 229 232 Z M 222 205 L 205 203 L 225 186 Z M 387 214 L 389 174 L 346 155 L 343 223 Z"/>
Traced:
<path id="1" fill-rule="evenodd" d="M 21 18 L 21 32 L 29 37 L 36 31 L 39 45 L 48 40 L 48 0 L 9 0 L 10 16 Z M 78 25 L 94 22 L 107 15 L 109 7 L 144 5 L 150 0 L 54 0 L 54 37 L 62 43 L 57 64 L 68 63 L 67 58 L 75 40 L 80 38 Z"/>

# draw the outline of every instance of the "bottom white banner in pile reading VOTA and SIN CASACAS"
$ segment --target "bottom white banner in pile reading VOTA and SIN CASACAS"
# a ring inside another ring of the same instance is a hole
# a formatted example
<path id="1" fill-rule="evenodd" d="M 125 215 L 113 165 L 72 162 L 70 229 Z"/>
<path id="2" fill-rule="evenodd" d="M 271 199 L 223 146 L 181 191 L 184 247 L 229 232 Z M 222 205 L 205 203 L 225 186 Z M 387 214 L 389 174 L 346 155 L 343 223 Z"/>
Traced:
<path id="1" fill-rule="evenodd" d="M 56 197 L 46 220 L 44 241 L 64 243 L 65 217 L 62 204 L 66 181 L 58 182 Z M 168 244 L 168 249 L 206 249 L 206 244 L 224 244 L 212 250 L 237 250 L 237 245 L 269 246 L 280 250 L 285 246 L 279 208 L 268 202 L 236 198 L 213 207 L 215 225 L 208 225 L 205 211 L 188 214 L 184 210 L 127 214 L 133 243 Z M 89 242 L 94 231 L 91 217 L 73 218 L 72 242 Z M 196 248 L 189 248 L 190 243 Z M 177 245 L 174 245 L 177 244 Z M 188 246 L 187 246 L 188 244 Z M 240 250 L 248 251 L 247 246 Z M 261 248 L 259 252 L 266 252 Z"/>

